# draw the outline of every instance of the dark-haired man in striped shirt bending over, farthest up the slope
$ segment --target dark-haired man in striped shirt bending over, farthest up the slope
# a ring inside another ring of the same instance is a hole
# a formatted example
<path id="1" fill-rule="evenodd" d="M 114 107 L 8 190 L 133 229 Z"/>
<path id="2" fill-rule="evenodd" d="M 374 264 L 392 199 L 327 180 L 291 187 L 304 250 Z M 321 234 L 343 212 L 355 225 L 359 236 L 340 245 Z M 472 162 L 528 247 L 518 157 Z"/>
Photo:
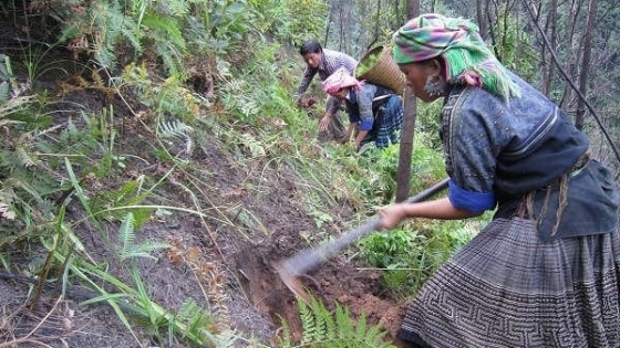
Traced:
<path id="1" fill-rule="evenodd" d="M 308 40 L 303 42 L 299 49 L 299 53 L 303 56 L 306 62 L 306 71 L 303 72 L 303 80 L 294 92 L 294 97 L 298 104 L 302 104 L 301 96 L 310 86 L 314 75 L 319 74 L 319 78 L 324 81 L 333 74 L 339 67 L 344 67 L 353 75 L 358 61 L 349 54 L 323 49 L 317 40 Z M 333 96 L 329 96 L 326 103 L 326 113 L 319 124 L 319 129 L 331 133 L 334 139 L 340 139 L 344 135 L 344 125 L 339 117 L 340 101 Z"/>

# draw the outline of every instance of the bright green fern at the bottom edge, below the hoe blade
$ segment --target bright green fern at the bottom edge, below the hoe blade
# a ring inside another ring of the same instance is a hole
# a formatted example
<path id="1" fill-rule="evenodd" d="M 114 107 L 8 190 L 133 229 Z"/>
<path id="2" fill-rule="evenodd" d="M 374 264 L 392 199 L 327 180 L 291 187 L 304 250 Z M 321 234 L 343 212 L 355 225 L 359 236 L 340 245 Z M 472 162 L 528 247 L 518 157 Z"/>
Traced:
<path id="1" fill-rule="evenodd" d="M 362 315 L 358 320 L 351 318 L 348 307 L 335 304 L 335 313 L 331 312 L 317 298 L 311 297 L 310 304 L 300 300 L 302 336 L 299 342 L 293 342 L 291 329 L 282 320 L 281 347 L 312 347 L 312 348 L 389 348 L 395 347 L 384 341 L 386 331 L 381 326 L 368 325 Z"/>

